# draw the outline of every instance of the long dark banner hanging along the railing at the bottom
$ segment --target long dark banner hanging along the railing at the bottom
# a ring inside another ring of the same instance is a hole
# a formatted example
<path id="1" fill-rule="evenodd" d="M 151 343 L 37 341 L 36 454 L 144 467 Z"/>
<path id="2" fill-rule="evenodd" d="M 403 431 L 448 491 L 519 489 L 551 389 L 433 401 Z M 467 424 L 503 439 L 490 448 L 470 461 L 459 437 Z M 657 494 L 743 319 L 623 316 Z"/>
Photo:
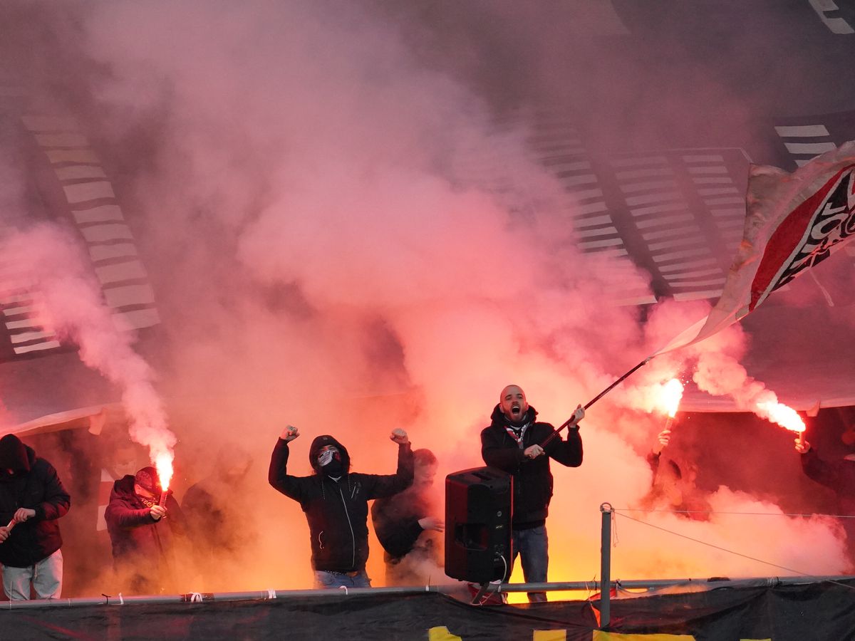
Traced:
<path id="1" fill-rule="evenodd" d="M 113 597 L 111 603 L 115 603 Z M 594 603 L 596 605 L 596 603 Z M 618 599 L 596 630 L 589 602 L 475 607 L 433 592 L 258 601 L 110 604 L 0 611 L 0 639 L 569 639 L 855 638 L 855 583 L 812 583 Z"/>

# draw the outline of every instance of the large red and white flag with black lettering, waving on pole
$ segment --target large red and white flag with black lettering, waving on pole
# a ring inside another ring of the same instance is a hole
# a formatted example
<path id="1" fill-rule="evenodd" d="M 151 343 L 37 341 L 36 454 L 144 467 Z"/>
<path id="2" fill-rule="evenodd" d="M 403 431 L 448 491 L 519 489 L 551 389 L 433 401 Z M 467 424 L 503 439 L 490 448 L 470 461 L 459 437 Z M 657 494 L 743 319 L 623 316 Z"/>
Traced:
<path id="1" fill-rule="evenodd" d="M 752 165 L 746 205 L 745 233 L 716 307 L 653 356 L 739 321 L 855 237 L 855 141 L 793 173 Z"/>

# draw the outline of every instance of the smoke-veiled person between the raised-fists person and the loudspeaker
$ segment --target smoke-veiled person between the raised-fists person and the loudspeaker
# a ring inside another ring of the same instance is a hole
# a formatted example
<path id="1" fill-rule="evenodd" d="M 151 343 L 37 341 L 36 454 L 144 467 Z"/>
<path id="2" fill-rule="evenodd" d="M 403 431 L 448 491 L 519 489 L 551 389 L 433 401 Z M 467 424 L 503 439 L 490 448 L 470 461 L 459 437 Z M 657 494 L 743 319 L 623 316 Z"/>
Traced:
<path id="1" fill-rule="evenodd" d="M 431 496 L 436 456 L 431 450 L 416 450 L 413 460 L 413 485 L 371 506 L 374 532 L 384 550 L 386 585 L 428 585 L 432 577 L 444 574 L 434 532 L 443 532 L 445 523 L 434 516 Z"/>

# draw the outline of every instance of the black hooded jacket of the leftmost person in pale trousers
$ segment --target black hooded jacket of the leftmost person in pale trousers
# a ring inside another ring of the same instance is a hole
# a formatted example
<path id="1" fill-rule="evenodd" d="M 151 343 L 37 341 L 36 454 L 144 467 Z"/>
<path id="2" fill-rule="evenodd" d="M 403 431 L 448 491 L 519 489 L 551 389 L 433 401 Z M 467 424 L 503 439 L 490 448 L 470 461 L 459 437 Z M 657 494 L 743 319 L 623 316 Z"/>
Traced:
<path id="1" fill-rule="evenodd" d="M 10 476 L 7 469 L 15 474 Z M 0 544 L 0 564 L 29 567 L 59 550 L 62 536 L 56 520 L 70 506 L 71 497 L 49 462 L 14 434 L 0 438 L 0 525 L 8 524 L 19 508 L 36 512 L 16 523 Z"/>

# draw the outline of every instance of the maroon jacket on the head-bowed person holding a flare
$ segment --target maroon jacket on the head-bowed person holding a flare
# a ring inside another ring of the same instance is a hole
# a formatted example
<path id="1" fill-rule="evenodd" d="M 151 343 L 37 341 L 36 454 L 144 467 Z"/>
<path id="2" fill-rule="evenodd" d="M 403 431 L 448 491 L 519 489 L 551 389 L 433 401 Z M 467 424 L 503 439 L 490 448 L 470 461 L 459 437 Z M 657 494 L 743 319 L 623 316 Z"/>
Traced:
<path id="1" fill-rule="evenodd" d="M 150 591 L 168 584 L 174 534 L 184 532 L 184 518 L 178 502 L 170 494 L 167 515 L 151 518 L 150 509 L 133 491 L 134 477 L 123 476 L 113 484 L 104 513 L 107 532 L 113 544 L 113 562 L 120 573 L 133 571 L 144 581 L 140 589 Z"/>

